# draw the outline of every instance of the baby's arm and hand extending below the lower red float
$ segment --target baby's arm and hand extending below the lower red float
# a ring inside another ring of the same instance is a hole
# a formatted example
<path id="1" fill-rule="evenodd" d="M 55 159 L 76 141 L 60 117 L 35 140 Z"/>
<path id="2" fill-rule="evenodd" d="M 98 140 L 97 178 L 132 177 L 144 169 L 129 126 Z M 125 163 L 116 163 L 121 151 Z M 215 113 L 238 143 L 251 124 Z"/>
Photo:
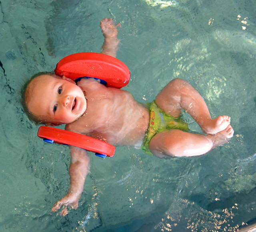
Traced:
<path id="1" fill-rule="evenodd" d="M 70 189 L 66 196 L 52 207 L 52 212 L 56 212 L 63 205 L 60 214 L 64 216 L 68 214 L 68 207 L 77 209 L 78 201 L 84 190 L 86 175 L 90 170 L 90 157 L 86 150 L 70 146 L 70 156 Z"/>

